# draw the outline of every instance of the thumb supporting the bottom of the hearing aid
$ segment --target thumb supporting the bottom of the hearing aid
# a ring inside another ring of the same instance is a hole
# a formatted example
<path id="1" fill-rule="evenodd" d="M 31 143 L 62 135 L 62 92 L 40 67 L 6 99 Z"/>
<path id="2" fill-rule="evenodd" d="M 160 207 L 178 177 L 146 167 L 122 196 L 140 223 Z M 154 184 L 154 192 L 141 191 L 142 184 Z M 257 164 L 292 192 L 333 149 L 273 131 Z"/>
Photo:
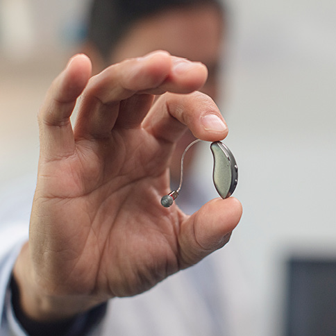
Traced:
<path id="1" fill-rule="evenodd" d="M 180 227 L 181 268 L 191 266 L 223 247 L 242 217 L 242 205 L 234 197 L 213 199 L 186 219 Z"/>

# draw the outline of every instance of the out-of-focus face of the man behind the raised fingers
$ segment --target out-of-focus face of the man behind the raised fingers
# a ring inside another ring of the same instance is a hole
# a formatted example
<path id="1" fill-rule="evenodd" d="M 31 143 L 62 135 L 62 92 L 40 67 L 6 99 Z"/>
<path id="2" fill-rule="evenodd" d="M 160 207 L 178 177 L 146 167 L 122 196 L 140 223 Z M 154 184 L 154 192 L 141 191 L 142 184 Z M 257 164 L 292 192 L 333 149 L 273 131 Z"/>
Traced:
<path id="1" fill-rule="evenodd" d="M 216 99 L 222 33 L 221 13 L 215 6 L 165 11 L 134 24 L 115 48 L 111 62 L 144 56 L 158 49 L 169 51 L 174 56 L 203 62 L 208 67 L 209 75 L 201 91 Z M 176 146 L 171 162 L 171 177 L 174 180 L 179 178 L 182 153 L 193 140 L 194 136 L 187 132 Z M 195 148 L 196 145 L 185 156 L 186 170 L 190 167 Z"/>

